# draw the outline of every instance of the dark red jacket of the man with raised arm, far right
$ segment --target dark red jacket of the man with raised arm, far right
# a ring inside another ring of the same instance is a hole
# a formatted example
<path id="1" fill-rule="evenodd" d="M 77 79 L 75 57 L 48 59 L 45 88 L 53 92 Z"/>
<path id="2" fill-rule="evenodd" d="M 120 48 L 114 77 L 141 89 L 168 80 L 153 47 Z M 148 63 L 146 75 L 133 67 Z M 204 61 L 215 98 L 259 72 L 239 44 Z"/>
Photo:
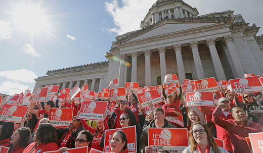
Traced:
<path id="1" fill-rule="evenodd" d="M 235 119 L 225 120 L 220 118 L 221 113 L 221 109 L 215 108 L 212 121 L 229 132 L 234 153 L 250 152 L 245 137 L 248 137 L 248 133 L 262 132 L 262 126 L 249 120 L 244 125 L 238 123 Z"/>

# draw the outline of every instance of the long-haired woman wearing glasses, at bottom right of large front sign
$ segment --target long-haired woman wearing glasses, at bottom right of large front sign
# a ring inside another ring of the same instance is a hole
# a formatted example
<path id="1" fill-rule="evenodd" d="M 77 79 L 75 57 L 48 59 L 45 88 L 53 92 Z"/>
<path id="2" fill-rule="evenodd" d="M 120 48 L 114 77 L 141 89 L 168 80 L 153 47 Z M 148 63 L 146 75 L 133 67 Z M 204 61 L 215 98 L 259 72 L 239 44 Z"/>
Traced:
<path id="1" fill-rule="evenodd" d="M 228 153 L 228 151 L 217 146 L 209 127 L 203 122 L 195 122 L 190 129 L 190 145 L 183 153 Z"/>

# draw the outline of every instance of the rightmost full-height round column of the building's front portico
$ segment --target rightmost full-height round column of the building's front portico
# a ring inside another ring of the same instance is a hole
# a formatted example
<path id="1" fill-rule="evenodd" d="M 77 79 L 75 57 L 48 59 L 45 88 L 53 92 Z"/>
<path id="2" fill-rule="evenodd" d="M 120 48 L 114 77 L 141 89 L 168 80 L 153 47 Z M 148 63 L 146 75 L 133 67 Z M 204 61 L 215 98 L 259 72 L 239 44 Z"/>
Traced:
<path id="1" fill-rule="evenodd" d="M 236 73 L 237 73 L 239 78 L 242 78 L 245 74 L 245 70 L 244 70 L 243 65 L 240 61 L 240 58 L 238 56 L 235 44 L 233 43 L 233 36 L 232 35 L 224 36 L 224 41 L 227 44 L 227 47 L 228 47 L 230 56 L 232 58 Z"/>

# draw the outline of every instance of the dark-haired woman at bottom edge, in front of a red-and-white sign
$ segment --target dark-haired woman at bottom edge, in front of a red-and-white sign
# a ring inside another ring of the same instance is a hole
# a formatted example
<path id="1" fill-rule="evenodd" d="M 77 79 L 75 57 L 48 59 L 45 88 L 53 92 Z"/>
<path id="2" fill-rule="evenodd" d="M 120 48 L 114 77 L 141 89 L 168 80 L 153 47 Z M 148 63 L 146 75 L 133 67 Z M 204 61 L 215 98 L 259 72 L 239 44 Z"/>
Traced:
<path id="1" fill-rule="evenodd" d="M 113 133 L 112 139 L 110 141 L 110 149 L 110 152 L 114 153 L 127 152 L 127 137 L 123 131 L 117 130 Z"/>

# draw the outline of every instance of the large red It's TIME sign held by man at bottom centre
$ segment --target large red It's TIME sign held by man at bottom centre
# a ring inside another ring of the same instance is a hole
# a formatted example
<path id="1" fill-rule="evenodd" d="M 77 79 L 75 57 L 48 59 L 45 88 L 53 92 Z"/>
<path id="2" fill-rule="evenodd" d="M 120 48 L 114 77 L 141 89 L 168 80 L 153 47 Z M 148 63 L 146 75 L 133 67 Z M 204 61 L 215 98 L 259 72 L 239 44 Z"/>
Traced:
<path id="1" fill-rule="evenodd" d="M 153 152 L 160 149 L 183 152 L 188 146 L 187 128 L 149 128 L 148 146 L 153 148 Z"/>

